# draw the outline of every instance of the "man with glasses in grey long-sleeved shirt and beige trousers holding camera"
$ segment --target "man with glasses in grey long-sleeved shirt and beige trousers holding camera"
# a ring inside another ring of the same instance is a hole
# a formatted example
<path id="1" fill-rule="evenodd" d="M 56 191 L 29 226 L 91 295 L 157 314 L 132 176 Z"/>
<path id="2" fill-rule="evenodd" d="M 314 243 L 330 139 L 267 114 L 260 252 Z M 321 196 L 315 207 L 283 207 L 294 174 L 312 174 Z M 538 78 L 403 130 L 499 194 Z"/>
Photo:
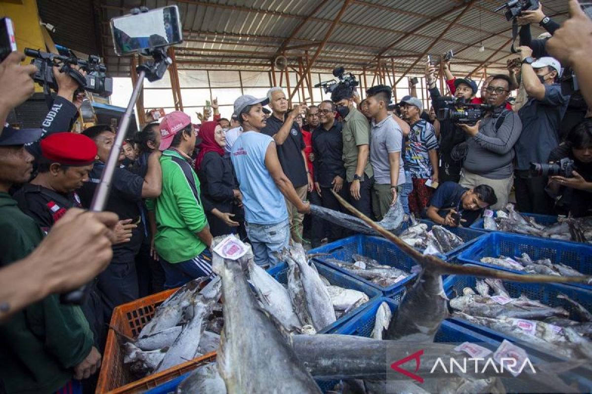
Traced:
<path id="1" fill-rule="evenodd" d="M 491 186 L 497 196 L 497 203 L 491 207 L 494 210 L 508 203 L 514 172 L 514 144 L 522 132 L 518 114 L 506 109 L 509 95 L 510 78 L 493 76 L 487 87 L 487 104 L 493 109 L 474 126 L 460 125 L 468 136 L 460 184 L 467 188 L 480 184 Z"/>

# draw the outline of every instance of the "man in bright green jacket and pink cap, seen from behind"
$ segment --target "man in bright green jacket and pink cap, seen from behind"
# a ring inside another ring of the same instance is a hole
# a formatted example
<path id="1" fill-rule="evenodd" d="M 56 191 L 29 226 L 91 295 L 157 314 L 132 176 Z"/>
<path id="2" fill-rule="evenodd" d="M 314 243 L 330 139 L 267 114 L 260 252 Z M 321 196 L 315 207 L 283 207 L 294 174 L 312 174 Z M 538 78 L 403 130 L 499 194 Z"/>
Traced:
<path id="1" fill-rule="evenodd" d="M 160 135 L 162 193 L 147 206 L 156 214 L 154 245 L 165 270 L 165 288 L 175 288 L 214 276 L 212 235 L 189 156 L 197 135 L 191 118 L 181 111 L 169 113 L 160 122 Z"/>

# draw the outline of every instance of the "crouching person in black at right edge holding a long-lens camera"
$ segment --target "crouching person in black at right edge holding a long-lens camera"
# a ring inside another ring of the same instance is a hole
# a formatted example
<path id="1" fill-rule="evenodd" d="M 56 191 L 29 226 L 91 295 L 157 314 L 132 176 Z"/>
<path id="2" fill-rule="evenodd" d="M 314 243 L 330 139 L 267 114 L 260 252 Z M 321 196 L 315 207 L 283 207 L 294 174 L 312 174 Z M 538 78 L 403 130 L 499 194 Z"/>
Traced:
<path id="1" fill-rule="evenodd" d="M 549 178 L 548 190 L 573 217 L 589 216 L 592 209 L 592 119 L 584 119 L 563 144 L 553 149 L 549 162 L 572 160 L 571 174 Z"/>

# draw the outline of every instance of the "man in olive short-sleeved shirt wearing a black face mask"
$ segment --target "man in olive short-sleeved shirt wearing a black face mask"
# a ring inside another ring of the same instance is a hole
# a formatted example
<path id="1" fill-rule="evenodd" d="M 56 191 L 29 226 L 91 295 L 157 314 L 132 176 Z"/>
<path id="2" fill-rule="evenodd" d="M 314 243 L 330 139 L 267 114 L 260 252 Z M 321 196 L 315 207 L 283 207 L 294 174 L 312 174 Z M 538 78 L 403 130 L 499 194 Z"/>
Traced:
<path id="1" fill-rule="evenodd" d="M 372 217 L 372 185 L 374 173 L 368 159 L 370 151 L 370 124 L 353 106 L 353 90 L 339 84 L 331 99 L 343 120 L 343 163 L 349 185 L 350 202 L 359 211 Z"/>

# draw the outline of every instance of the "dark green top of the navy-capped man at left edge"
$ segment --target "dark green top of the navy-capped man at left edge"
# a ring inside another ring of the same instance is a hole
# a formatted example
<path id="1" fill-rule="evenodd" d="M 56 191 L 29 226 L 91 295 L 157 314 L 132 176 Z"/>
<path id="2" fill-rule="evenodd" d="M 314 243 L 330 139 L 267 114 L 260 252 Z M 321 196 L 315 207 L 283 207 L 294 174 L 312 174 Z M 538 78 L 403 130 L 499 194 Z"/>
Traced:
<path id="1" fill-rule="evenodd" d="M 0 266 L 24 258 L 43 238 L 7 193 L 0 193 L 0 234 Z M 0 325 L 0 379 L 8 393 L 55 392 L 72 379 L 72 368 L 88 356 L 92 344 L 81 308 L 49 295 Z"/>

